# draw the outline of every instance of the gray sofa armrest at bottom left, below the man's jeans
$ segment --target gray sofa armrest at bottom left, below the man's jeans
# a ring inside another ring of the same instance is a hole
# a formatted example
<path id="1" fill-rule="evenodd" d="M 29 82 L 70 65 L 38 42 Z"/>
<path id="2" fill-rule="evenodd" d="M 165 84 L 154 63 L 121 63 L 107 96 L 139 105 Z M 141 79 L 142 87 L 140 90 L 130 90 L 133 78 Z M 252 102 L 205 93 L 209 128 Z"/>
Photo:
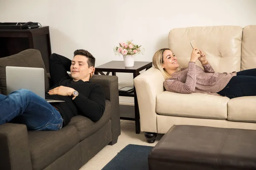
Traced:
<path id="1" fill-rule="evenodd" d="M 26 125 L 0 125 L 0 170 L 32 170 Z"/>

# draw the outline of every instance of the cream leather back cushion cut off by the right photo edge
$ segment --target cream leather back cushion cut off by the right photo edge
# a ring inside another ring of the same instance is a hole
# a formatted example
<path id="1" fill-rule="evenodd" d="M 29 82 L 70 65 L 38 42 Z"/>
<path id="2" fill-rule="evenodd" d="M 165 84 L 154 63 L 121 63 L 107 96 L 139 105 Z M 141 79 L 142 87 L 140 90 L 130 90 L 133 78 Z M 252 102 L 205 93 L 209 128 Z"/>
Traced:
<path id="1" fill-rule="evenodd" d="M 256 68 L 256 26 L 243 29 L 241 70 Z"/>

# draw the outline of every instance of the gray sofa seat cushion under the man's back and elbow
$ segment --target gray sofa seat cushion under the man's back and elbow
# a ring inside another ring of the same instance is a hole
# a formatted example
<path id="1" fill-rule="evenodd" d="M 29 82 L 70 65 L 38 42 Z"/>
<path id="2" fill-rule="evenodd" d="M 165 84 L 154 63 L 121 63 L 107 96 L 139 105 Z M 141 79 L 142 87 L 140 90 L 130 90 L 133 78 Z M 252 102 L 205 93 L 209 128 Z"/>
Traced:
<path id="1" fill-rule="evenodd" d="M 98 122 L 93 122 L 87 117 L 78 115 L 71 119 L 69 125 L 76 127 L 80 141 L 92 135 L 111 119 L 111 102 L 106 100 L 105 112 Z"/>

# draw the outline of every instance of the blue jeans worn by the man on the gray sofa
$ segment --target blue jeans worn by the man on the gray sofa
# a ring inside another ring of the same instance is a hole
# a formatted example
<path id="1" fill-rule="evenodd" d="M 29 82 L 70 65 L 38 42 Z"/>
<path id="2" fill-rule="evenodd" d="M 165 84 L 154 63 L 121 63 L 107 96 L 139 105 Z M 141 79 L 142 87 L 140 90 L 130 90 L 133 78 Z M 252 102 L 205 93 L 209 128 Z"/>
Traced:
<path id="1" fill-rule="evenodd" d="M 60 130 L 63 124 L 61 114 L 52 105 L 26 89 L 8 96 L 0 94 L 0 125 L 13 119 L 28 130 Z"/>

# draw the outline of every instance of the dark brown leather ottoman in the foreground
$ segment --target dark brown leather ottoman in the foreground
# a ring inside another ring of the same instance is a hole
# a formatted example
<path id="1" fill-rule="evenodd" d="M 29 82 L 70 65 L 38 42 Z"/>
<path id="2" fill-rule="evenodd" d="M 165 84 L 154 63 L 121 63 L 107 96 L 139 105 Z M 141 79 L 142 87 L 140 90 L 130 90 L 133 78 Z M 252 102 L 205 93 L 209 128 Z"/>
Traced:
<path id="1" fill-rule="evenodd" d="M 151 150 L 149 170 L 256 170 L 256 130 L 174 125 Z"/>

